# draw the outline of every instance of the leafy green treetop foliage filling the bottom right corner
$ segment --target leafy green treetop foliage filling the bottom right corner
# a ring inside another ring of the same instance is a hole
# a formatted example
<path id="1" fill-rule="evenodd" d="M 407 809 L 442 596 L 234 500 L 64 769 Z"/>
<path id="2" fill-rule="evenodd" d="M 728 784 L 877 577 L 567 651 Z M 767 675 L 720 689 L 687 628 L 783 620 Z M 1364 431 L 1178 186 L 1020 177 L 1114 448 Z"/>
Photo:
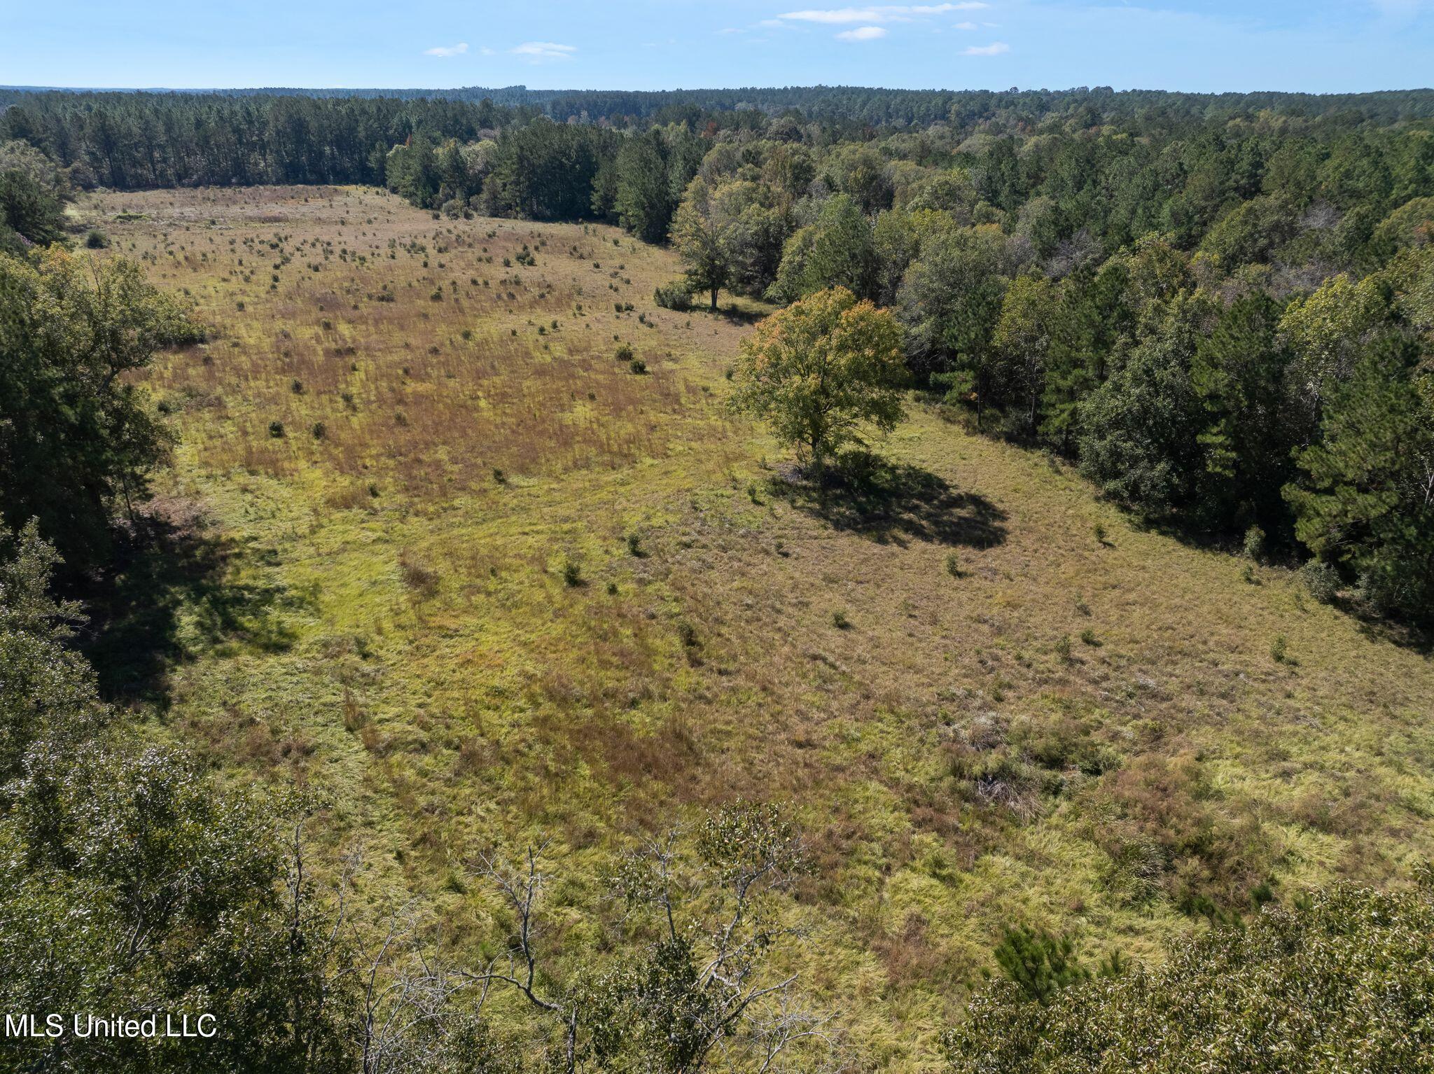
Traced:
<path id="1" fill-rule="evenodd" d="M 1271 903 L 1248 925 L 1184 941 L 1163 965 L 1067 981 L 1045 1002 L 992 985 L 945 1048 L 954 1074 L 1424 1070 L 1431 997 L 1425 872 L 1415 890 L 1341 886 Z"/>

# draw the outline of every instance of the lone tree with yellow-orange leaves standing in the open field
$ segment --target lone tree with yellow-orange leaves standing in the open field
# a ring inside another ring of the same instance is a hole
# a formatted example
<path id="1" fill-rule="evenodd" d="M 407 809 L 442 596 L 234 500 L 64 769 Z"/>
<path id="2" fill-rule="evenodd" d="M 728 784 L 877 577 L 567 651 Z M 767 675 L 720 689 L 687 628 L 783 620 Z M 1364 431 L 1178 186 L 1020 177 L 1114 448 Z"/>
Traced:
<path id="1" fill-rule="evenodd" d="M 902 420 L 902 330 L 845 287 L 817 291 L 757 327 L 734 380 L 733 409 L 767 420 L 820 473 L 843 445 L 862 443 L 863 424 L 889 433 Z"/>

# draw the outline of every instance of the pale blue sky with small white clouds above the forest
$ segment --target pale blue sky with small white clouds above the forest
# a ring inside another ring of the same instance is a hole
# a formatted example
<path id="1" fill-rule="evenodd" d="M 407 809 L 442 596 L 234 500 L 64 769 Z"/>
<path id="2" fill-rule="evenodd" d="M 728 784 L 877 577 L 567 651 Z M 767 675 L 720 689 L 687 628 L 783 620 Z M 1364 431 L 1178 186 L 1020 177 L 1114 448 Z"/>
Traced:
<path id="1" fill-rule="evenodd" d="M 1434 0 L 0 0 L 0 85 L 1344 92 L 1434 83 Z"/>

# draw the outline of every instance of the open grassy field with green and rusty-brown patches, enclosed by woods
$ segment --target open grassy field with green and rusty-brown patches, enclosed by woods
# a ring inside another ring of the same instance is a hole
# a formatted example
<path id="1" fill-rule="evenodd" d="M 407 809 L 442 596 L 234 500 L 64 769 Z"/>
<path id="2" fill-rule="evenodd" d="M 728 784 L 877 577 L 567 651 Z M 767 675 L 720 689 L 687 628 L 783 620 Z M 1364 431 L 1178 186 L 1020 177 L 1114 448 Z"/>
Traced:
<path id="1" fill-rule="evenodd" d="M 918 1071 L 1002 926 L 1159 958 L 1434 856 L 1418 647 L 915 400 L 876 492 L 813 496 L 723 406 L 760 310 L 654 307 L 668 251 L 356 188 L 82 212 L 212 327 L 146 379 L 181 439 L 102 677 L 331 800 L 367 913 L 478 946 L 473 853 L 541 833 L 576 965 L 615 850 L 789 802 L 802 988 L 858 1067 Z"/>

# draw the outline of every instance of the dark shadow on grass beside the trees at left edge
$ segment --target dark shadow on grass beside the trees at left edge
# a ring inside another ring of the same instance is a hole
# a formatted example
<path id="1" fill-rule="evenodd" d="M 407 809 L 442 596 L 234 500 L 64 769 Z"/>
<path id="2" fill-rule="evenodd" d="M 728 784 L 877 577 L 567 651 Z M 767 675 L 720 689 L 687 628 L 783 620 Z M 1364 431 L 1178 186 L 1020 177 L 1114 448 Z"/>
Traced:
<path id="1" fill-rule="evenodd" d="M 284 612 L 310 601 L 237 571 L 245 559 L 262 565 L 239 543 L 208 532 L 192 506 L 151 505 L 116 542 L 110 566 L 75 594 L 89 617 L 79 641 L 102 697 L 168 708 L 169 673 L 199 652 L 293 645 Z"/>

